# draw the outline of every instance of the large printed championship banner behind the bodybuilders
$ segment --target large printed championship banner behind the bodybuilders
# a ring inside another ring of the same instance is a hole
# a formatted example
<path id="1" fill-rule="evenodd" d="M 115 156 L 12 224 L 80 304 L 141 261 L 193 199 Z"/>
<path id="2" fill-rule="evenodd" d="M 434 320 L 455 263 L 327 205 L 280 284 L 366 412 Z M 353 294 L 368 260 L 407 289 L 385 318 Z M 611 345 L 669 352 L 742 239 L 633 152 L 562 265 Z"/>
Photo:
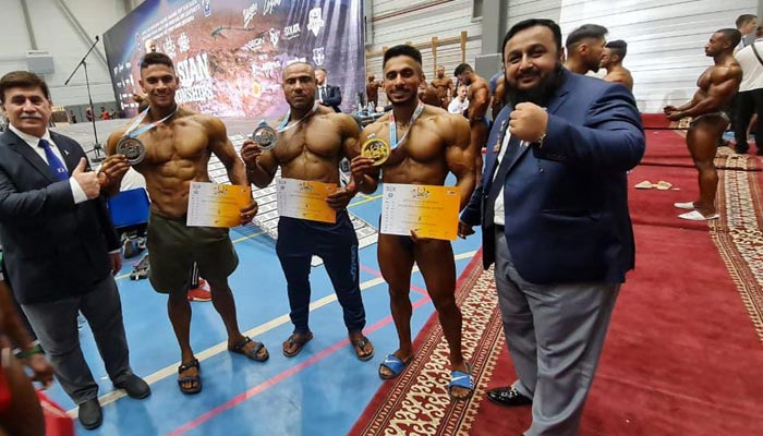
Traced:
<path id="1" fill-rule="evenodd" d="M 328 71 L 351 111 L 364 90 L 362 1 L 146 0 L 104 35 L 117 101 L 137 112 L 143 56 L 169 56 L 177 100 L 218 117 L 272 118 L 287 102 L 281 73 L 303 61 Z"/>

